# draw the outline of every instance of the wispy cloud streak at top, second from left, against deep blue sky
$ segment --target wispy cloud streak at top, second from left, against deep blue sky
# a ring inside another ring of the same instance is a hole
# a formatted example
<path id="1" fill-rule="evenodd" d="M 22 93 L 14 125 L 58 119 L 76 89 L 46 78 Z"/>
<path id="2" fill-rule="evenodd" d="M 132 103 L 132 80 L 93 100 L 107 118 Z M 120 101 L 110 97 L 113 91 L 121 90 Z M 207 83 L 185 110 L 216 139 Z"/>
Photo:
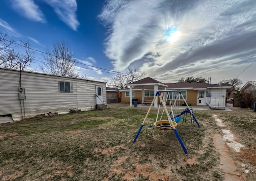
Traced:
<path id="1" fill-rule="evenodd" d="M 68 25 L 72 30 L 76 31 L 80 25 L 77 17 L 76 10 L 77 4 L 76 0 L 44 0 L 48 3 L 60 20 L 62 20 L 66 25 Z"/>

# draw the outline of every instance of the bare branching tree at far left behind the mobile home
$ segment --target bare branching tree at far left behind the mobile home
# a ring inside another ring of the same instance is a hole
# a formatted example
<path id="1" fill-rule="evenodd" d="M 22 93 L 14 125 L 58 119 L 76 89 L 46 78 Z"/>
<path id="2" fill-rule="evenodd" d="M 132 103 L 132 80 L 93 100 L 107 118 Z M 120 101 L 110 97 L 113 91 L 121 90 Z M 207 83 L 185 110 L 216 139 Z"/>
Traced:
<path id="1" fill-rule="evenodd" d="M 11 44 L 8 44 L 9 46 Z M 10 49 L 6 45 L 6 48 L 2 50 L 0 54 L 0 67 L 9 69 L 21 69 L 25 70 L 31 66 L 34 59 L 34 52 L 30 52 L 29 42 L 21 42 L 21 45 L 25 47 L 26 55 L 22 55 L 19 52 L 14 52 L 14 49 Z"/>

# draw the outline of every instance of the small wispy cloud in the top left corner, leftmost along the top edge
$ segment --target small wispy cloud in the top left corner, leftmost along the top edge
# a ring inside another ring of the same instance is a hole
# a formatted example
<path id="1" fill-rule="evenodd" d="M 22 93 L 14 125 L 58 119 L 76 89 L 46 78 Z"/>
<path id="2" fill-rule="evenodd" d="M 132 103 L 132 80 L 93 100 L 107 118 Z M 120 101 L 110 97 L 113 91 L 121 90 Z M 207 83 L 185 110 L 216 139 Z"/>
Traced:
<path id="1" fill-rule="evenodd" d="M 36 22 L 46 22 L 44 14 L 34 0 L 11 0 L 12 8 L 21 16 Z"/>

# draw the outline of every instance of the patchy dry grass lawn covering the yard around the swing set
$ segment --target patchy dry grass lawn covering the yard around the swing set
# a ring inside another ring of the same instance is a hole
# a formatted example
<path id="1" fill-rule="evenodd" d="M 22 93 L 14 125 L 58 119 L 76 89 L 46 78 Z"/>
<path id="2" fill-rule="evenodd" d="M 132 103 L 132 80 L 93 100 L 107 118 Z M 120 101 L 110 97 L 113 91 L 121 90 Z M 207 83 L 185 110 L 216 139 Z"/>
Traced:
<path id="1" fill-rule="evenodd" d="M 223 133 L 212 114 L 244 145 L 239 153 L 228 148 L 240 180 L 256 180 L 252 110 L 194 111 L 200 127 L 191 126 L 189 120 L 177 127 L 188 150 L 184 155 L 172 130 L 143 127 L 133 142 L 147 109 L 126 104 L 108 107 L 1 124 L 0 180 L 222 181 L 213 135 Z M 149 115 L 152 125 L 156 113 Z"/>

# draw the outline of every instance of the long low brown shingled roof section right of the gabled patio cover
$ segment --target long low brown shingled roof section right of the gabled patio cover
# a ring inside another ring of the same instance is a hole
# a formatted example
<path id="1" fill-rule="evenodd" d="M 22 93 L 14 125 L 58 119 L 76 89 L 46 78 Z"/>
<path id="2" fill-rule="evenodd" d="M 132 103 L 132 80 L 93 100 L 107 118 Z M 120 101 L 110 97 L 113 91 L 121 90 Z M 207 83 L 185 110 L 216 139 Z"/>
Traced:
<path id="1" fill-rule="evenodd" d="M 220 87 L 219 84 L 206 84 L 199 82 L 178 82 L 166 84 L 168 89 L 172 88 L 208 88 L 208 87 Z"/>

